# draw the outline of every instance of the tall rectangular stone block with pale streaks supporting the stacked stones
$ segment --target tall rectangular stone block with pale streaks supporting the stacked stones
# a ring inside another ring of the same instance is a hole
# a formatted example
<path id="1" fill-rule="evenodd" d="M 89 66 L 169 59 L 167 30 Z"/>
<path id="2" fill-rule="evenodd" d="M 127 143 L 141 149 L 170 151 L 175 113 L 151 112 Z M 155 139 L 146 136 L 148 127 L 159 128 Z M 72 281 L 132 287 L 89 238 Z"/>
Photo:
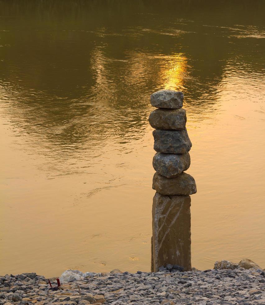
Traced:
<path id="1" fill-rule="evenodd" d="M 153 198 L 153 270 L 167 264 L 191 270 L 190 196 Z"/>

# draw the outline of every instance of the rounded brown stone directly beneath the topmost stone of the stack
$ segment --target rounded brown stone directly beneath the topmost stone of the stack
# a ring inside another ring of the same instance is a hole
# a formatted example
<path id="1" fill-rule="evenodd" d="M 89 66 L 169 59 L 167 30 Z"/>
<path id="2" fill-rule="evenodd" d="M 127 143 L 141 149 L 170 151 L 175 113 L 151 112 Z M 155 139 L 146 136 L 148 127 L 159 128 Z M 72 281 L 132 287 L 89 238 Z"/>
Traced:
<path id="1" fill-rule="evenodd" d="M 183 130 L 186 127 L 186 110 L 156 109 L 149 115 L 149 123 L 154 129 Z"/>

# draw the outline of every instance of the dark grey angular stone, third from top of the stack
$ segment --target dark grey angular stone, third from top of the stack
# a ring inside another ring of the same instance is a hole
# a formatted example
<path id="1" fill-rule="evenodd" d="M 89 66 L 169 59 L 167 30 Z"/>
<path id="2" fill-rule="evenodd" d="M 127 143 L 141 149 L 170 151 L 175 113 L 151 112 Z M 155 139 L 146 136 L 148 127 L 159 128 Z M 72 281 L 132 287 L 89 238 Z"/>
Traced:
<path id="1" fill-rule="evenodd" d="M 192 146 L 187 129 L 153 131 L 154 150 L 158 153 L 188 153 Z"/>

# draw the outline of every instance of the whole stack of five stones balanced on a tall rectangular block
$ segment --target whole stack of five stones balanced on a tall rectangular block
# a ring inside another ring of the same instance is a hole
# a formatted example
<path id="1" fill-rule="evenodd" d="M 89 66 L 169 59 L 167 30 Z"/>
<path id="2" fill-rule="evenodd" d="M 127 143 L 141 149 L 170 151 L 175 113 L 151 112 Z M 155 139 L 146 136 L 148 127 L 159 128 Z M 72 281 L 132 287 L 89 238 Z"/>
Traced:
<path id="1" fill-rule="evenodd" d="M 151 105 L 158 108 L 149 116 L 157 152 L 153 157 L 152 272 L 191 270 L 190 195 L 197 190 L 194 178 L 184 173 L 190 167 L 192 144 L 183 98 L 182 92 L 174 90 L 151 95 Z"/>

